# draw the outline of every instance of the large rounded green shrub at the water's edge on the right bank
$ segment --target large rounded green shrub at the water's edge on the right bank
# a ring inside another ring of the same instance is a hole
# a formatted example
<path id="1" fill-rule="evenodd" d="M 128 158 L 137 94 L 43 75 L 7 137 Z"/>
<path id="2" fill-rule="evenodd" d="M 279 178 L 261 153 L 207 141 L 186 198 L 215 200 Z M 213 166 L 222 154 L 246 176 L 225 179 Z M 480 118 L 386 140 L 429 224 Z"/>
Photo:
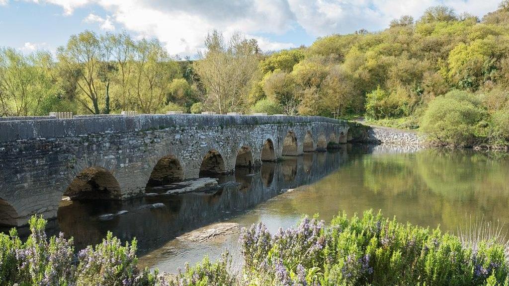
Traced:
<path id="1" fill-rule="evenodd" d="M 441 145 L 473 146 L 485 135 L 488 120 L 475 95 L 452 91 L 430 102 L 421 127 Z"/>

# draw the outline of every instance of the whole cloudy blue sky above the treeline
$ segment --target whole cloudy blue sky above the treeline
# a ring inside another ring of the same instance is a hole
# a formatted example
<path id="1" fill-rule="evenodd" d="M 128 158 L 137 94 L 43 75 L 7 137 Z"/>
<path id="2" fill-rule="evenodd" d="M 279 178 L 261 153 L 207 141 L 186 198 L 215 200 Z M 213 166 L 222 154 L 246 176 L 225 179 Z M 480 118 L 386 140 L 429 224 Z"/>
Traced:
<path id="1" fill-rule="evenodd" d="M 0 0 L 0 46 L 54 52 L 85 30 L 157 38 L 168 53 L 193 57 L 207 33 L 241 32 L 262 50 L 310 45 L 318 37 L 381 31 L 434 5 L 482 17 L 501 0 Z"/>

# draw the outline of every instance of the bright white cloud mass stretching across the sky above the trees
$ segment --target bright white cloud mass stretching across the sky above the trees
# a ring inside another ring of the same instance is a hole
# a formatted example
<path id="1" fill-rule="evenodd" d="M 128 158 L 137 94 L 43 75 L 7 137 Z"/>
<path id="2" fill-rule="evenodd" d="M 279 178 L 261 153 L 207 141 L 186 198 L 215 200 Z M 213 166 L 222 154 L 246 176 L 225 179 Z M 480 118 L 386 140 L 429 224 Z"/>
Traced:
<path id="1" fill-rule="evenodd" d="M 171 54 L 194 55 L 203 48 L 205 36 L 213 29 L 224 32 L 226 36 L 235 31 L 258 35 L 256 38 L 263 49 L 280 49 L 292 47 L 294 43 L 273 39 L 296 25 L 315 37 L 352 33 L 360 28 L 379 31 L 387 27 L 390 20 L 405 14 L 418 19 L 426 8 L 433 5 L 448 5 L 458 13 L 483 16 L 495 10 L 500 0 L 25 1 L 59 5 L 67 15 L 86 5 L 98 5 L 111 16 L 102 18 L 90 14 L 86 21 L 99 23 L 102 30 L 113 30 L 115 23 L 135 36 L 158 38 Z"/>

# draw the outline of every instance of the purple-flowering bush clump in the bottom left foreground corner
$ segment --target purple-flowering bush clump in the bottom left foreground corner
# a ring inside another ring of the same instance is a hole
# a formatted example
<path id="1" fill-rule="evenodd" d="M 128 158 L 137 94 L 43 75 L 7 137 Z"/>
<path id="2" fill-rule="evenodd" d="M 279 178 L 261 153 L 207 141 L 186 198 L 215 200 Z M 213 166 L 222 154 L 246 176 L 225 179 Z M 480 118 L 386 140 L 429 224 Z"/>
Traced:
<path id="1" fill-rule="evenodd" d="M 136 268 L 136 240 L 122 246 L 108 233 L 101 244 L 74 255 L 73 240 L 47 238 L 46 221 L 32 217 L 31 235 L 21 242 L 16 229 L 0 234 L 0 284 L 18 286 L 163 286 L 157 272 Z"/>

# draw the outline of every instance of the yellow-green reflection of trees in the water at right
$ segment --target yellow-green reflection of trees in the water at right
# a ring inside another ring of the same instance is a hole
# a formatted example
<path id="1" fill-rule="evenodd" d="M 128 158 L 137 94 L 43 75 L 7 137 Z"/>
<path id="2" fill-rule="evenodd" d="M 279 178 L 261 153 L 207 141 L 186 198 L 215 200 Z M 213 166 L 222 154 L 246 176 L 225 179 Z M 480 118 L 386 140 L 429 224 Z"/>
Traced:
<path id="1" fill-rule="evenodd" d="M 494 221 L 509 217 L 508 174 L 506 155 L 422 150 L 363 156 L 331 180 L 343 182 L 341 195 L 352 198 L 343 207 L 350 211 L 379 208 L 403 220 L 456 230 L 465 215 Z"/>

